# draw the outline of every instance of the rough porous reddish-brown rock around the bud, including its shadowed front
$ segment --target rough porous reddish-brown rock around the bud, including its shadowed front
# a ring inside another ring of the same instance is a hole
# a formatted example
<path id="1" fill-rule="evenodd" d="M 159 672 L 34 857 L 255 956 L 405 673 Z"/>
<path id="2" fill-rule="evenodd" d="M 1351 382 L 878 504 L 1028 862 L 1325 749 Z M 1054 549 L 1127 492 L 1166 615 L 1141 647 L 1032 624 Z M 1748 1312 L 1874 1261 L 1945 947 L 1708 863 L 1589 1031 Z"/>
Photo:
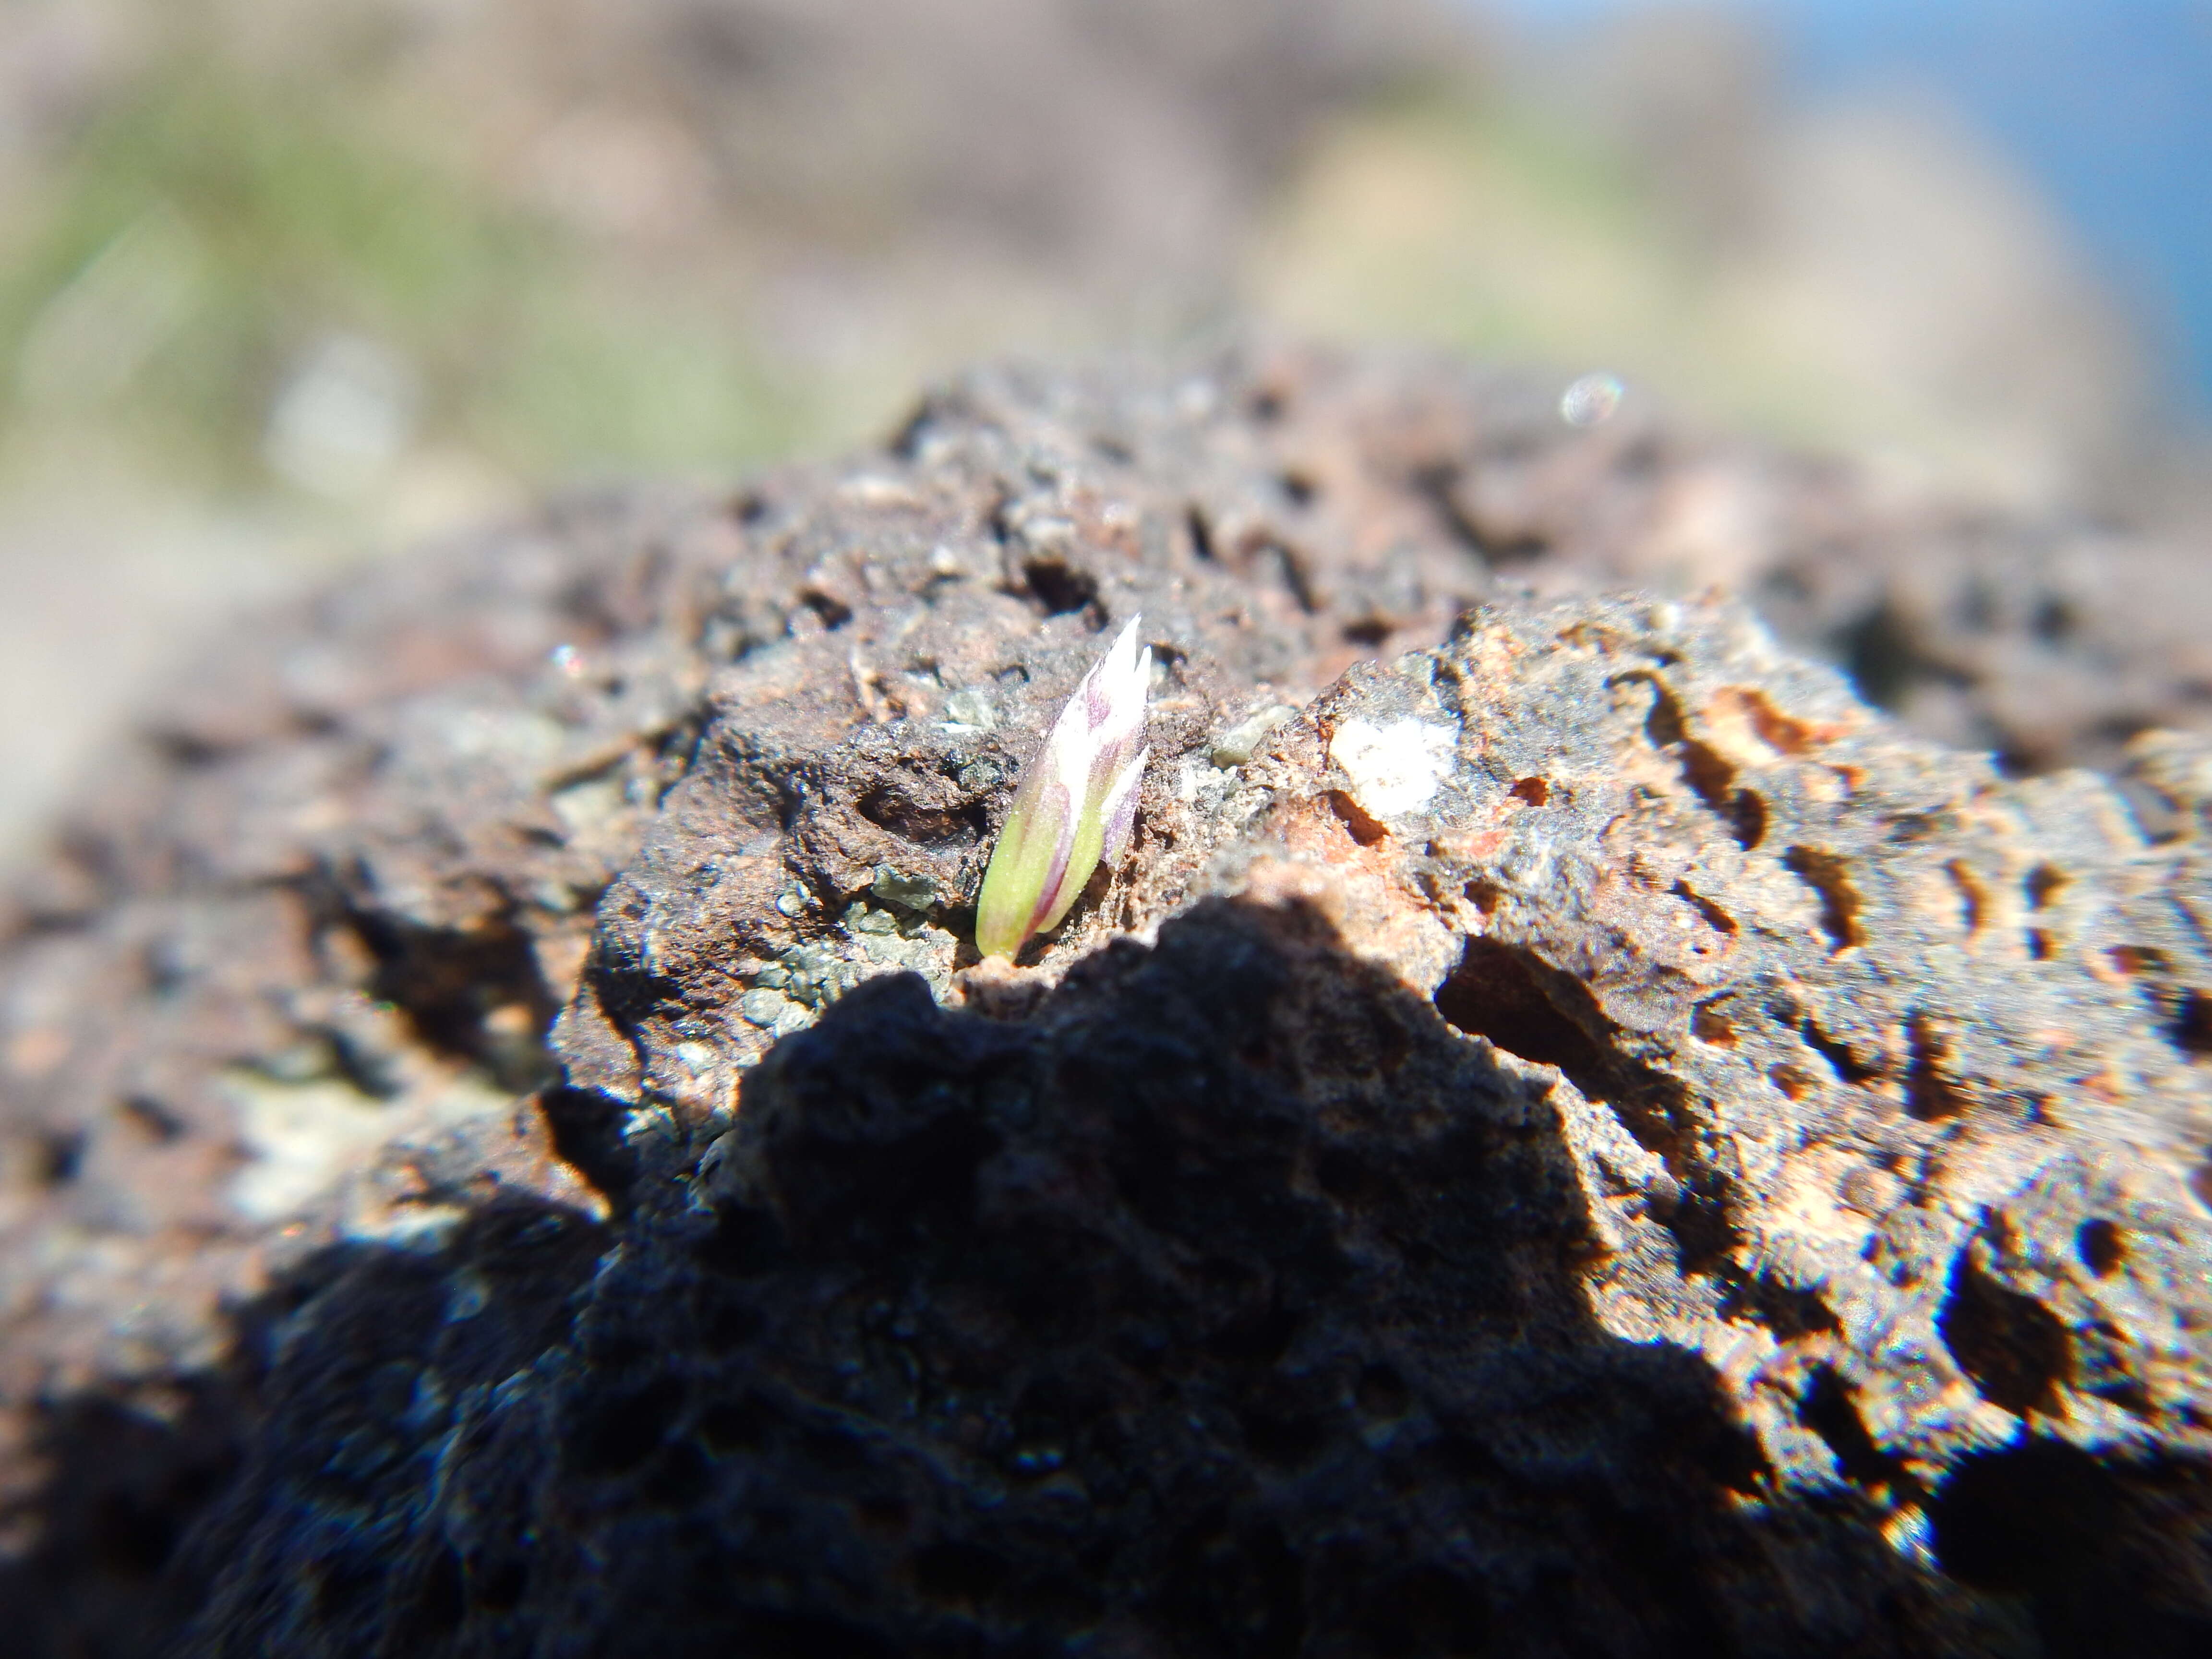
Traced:
<path id="1" fill-rule="evenodd" d="M 0 1613 L 2201 1650 L 2212 752 L 2008 781 L 1728 602 L 1533 597 L 1752 476 L 1670 442 L 1416 365 L 987 374 L 232 641 L 0 958 Z M 1135 847 L 975 967 L 1137 611 Z"/>

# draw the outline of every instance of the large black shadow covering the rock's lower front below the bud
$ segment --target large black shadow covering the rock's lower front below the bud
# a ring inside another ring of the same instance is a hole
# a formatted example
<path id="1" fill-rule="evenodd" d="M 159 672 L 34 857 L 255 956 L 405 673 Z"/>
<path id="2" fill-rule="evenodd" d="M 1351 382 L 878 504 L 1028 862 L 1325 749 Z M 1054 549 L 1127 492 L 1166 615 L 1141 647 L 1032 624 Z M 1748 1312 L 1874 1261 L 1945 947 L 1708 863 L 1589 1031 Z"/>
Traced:
<path id="1" fill-rule="evenodd" d="M 613 1234 L 502 1206 L 290 1285 L 175 1652 L 2117 1652 L 2020 1582 L 2033 1469 L 1940 1511 L 1971 1588 L 1599 1327 L 1542 1084 L 1312 911 L 1208 902 L 1020 1024 L 874 980 L 681 1164 Z M 2128 1537 L 2128 1639 L 2194 1650 Z"/>

